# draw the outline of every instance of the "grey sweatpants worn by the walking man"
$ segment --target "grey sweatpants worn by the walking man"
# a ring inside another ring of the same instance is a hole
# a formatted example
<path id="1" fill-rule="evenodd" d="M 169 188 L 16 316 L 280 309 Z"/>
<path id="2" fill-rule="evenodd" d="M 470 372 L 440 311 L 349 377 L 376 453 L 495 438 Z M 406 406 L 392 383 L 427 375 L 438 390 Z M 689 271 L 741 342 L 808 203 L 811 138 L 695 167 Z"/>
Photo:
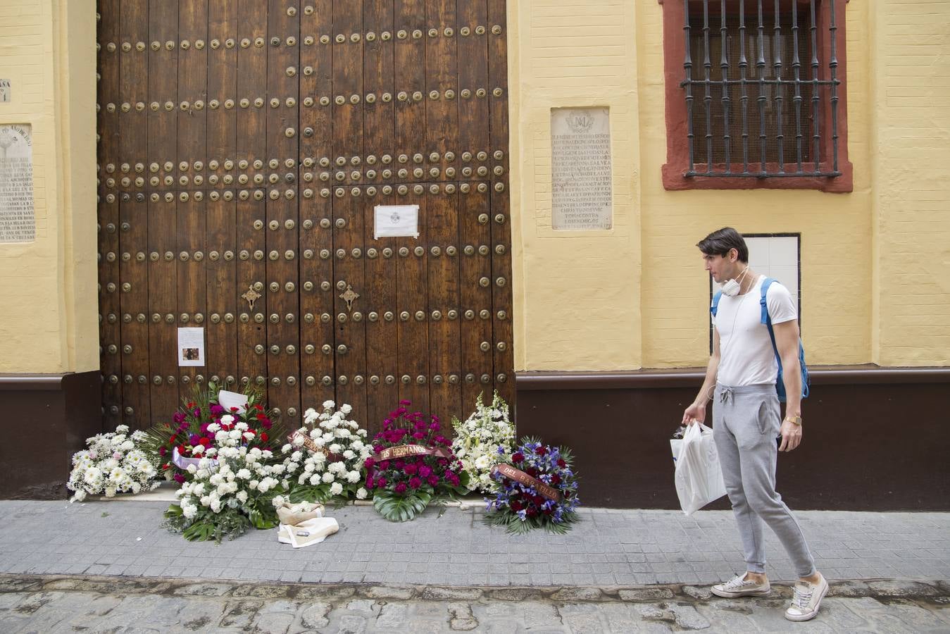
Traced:
<path id="1" fill-rule="evenodd" d="M 722 466 L 750 572 L 766 571 L 763 524 L 778 536 L 800 577 L 814 574 L 815 563 L 795 517 L 775 491 L 775 438 L 781 410 L 774 385 L 730 388 L 716 385 L 712 437 Z"/>

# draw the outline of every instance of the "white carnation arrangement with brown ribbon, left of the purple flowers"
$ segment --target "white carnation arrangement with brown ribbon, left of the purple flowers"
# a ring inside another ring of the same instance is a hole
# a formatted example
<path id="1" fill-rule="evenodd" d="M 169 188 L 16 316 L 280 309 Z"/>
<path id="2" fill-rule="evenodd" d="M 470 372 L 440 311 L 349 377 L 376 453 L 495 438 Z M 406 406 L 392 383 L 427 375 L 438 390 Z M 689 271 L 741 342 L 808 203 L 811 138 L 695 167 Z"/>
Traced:
<path id="1" fill-rule="evenodd" d="M 352 407 L 325 401 L 323 411 L 314 408 L 304 413 L 304 426 L 291 435 L 282 451 L 288 454 L 284 464 L 288 474 L 296 476 L 290 501 L 324 503 L 364 500 L 369 491 L 363 486 L 363 463 L 372 454 L 366 442 L 367 431 L 347 416 Z"/>

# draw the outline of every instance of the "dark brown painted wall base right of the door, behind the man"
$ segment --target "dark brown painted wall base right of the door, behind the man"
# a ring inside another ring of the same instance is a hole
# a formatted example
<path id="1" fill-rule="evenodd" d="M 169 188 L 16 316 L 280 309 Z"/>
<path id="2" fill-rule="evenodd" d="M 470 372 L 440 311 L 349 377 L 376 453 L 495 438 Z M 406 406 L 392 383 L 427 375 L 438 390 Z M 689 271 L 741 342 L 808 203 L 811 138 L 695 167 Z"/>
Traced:
<path id="1" fill-rule="evenodd" d="M 779 454 L 790 508 L 950 510 L 950 368 L 809 370 L 803 443 Z M 699 369 L 519 374 L 518 433 L 574 451 L 587 506 L 678 509 L 669 439 L 702 379 Z"/>

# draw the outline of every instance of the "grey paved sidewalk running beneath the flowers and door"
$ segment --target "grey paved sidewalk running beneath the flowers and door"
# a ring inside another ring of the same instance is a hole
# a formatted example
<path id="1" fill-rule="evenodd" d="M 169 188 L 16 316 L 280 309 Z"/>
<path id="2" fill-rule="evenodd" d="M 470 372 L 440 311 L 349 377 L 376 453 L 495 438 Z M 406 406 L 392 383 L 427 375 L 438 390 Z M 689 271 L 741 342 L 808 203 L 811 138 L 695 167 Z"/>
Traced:
<path id="1" fill-rule="evenodd" d="M 161 502 L 0 501 L 0 574 L 110 575 L 436 586 L 703 585 L 744 568 L 731 511 L 580 509 L 565 536 L 506 535 L 481 509 L 428 509 L 392 524 L 330 509 L 340 531 L 293 549 L 276 529 L 222 544 L 161 528 Z M 443 510 L 440 514 L 440 510 Z M 835 581 L 950 579 L 950 513 L 800 511 L 816 565 Z M 769 531 L 772 581 L 794 573 Z"/>

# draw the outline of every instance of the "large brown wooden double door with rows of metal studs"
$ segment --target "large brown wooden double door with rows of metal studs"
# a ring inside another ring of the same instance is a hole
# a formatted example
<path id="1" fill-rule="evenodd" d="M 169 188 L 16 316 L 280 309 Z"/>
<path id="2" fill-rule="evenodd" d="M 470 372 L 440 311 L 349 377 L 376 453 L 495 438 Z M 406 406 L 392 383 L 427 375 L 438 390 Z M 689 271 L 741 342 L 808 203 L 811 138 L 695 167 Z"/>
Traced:
<path id="1" fill-rule="evenodd" d="M 100 0 L 106 427 L 211 380 L 292 425 L 513 398 L 504 5 Z M 417 239 L 374 239 L 392 204 Z"/>

